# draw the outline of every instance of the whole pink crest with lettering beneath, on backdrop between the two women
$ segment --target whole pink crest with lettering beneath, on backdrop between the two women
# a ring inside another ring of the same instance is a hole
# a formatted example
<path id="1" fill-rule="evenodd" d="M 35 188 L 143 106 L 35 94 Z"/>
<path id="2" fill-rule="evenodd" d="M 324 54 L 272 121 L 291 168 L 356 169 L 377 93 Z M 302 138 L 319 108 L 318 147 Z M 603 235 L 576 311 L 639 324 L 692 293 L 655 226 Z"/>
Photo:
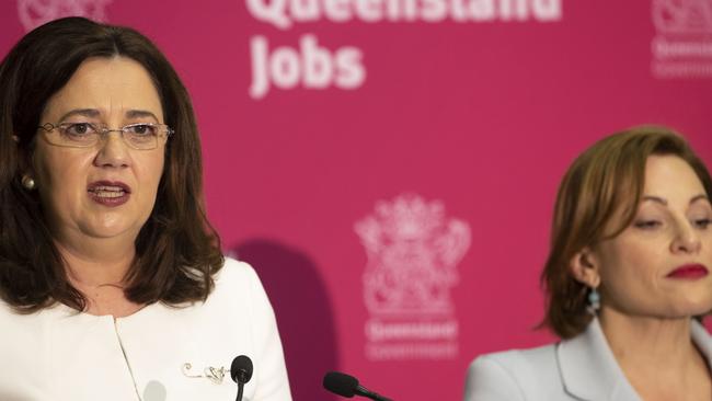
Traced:
<path id="1" fill-rule="evenodd" d="M 470 247 L 467 222 L 447 218 L 441 202 L 401 195 L 376 204 L 355 225 L 366 249 L 366 356 L 441 359 L 458 353 L 450 289 Z"/>

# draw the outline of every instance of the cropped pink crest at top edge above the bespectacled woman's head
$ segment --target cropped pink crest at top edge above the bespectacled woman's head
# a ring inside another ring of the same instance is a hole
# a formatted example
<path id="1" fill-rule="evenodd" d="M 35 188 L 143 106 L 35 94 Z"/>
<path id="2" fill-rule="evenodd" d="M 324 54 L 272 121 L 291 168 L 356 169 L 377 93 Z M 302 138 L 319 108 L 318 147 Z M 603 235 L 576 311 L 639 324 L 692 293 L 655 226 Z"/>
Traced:
<path id="1" fill-rule="evenodd" d="M 105 21 L 112 0 L 18 0 L 18 16 L 26 31 L 62 16 L 85 16 Z"/>

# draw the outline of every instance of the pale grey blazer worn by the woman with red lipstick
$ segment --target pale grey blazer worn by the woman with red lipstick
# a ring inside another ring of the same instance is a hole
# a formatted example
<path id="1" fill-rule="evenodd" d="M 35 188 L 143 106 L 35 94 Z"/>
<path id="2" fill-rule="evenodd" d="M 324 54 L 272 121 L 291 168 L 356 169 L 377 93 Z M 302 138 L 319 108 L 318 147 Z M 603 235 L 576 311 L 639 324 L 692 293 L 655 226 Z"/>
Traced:
<path id="1" fill-rule="evenodd" d="M 692 341 L 712 366 L 712 339 L 697 321 Z M 571 340 L 482 355 L 468 370 L 464 401 L 640 401 L 598 320 Z"/>

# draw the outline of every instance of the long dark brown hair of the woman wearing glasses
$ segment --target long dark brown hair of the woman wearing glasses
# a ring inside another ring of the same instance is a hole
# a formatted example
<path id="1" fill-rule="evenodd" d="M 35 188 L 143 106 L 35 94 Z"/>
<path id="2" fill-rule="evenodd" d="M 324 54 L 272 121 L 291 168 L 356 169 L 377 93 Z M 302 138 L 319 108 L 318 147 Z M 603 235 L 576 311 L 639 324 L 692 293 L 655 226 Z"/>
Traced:
<path id="1" fill-rule="evenodd" d="M 82 18 L 49 22 L 25 35 L 0 65 L 0 297 L 22 312 L 55 302 L 77 310 L 85 298 L 67 278 L 36 191 L 21 176 L 31 165 L 39 116 L 49 98 L 90 57 L 127 57 L 151 76 L 165 124 L 175 134 L 156 205 L 136 239 L 126 297 L 138 303 L 204 300 L 223 259 L 203 198 L 200 142 L 183 83 L 140 33 Z"/>

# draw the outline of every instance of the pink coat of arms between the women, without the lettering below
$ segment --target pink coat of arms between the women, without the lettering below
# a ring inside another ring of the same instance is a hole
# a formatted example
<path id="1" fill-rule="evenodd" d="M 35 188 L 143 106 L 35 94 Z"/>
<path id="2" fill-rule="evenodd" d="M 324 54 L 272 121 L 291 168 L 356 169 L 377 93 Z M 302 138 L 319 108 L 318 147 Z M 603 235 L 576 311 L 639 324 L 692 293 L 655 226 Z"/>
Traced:
<path id="1" fill-rule="evenodd" d="M 449 313 L 457 263 L 470 245 L 470 228 L 446 219 L 440 202 L 404 195 L 379 202 L 356 224 L 368 255 L 365 302 L 371 313 Z"/>

